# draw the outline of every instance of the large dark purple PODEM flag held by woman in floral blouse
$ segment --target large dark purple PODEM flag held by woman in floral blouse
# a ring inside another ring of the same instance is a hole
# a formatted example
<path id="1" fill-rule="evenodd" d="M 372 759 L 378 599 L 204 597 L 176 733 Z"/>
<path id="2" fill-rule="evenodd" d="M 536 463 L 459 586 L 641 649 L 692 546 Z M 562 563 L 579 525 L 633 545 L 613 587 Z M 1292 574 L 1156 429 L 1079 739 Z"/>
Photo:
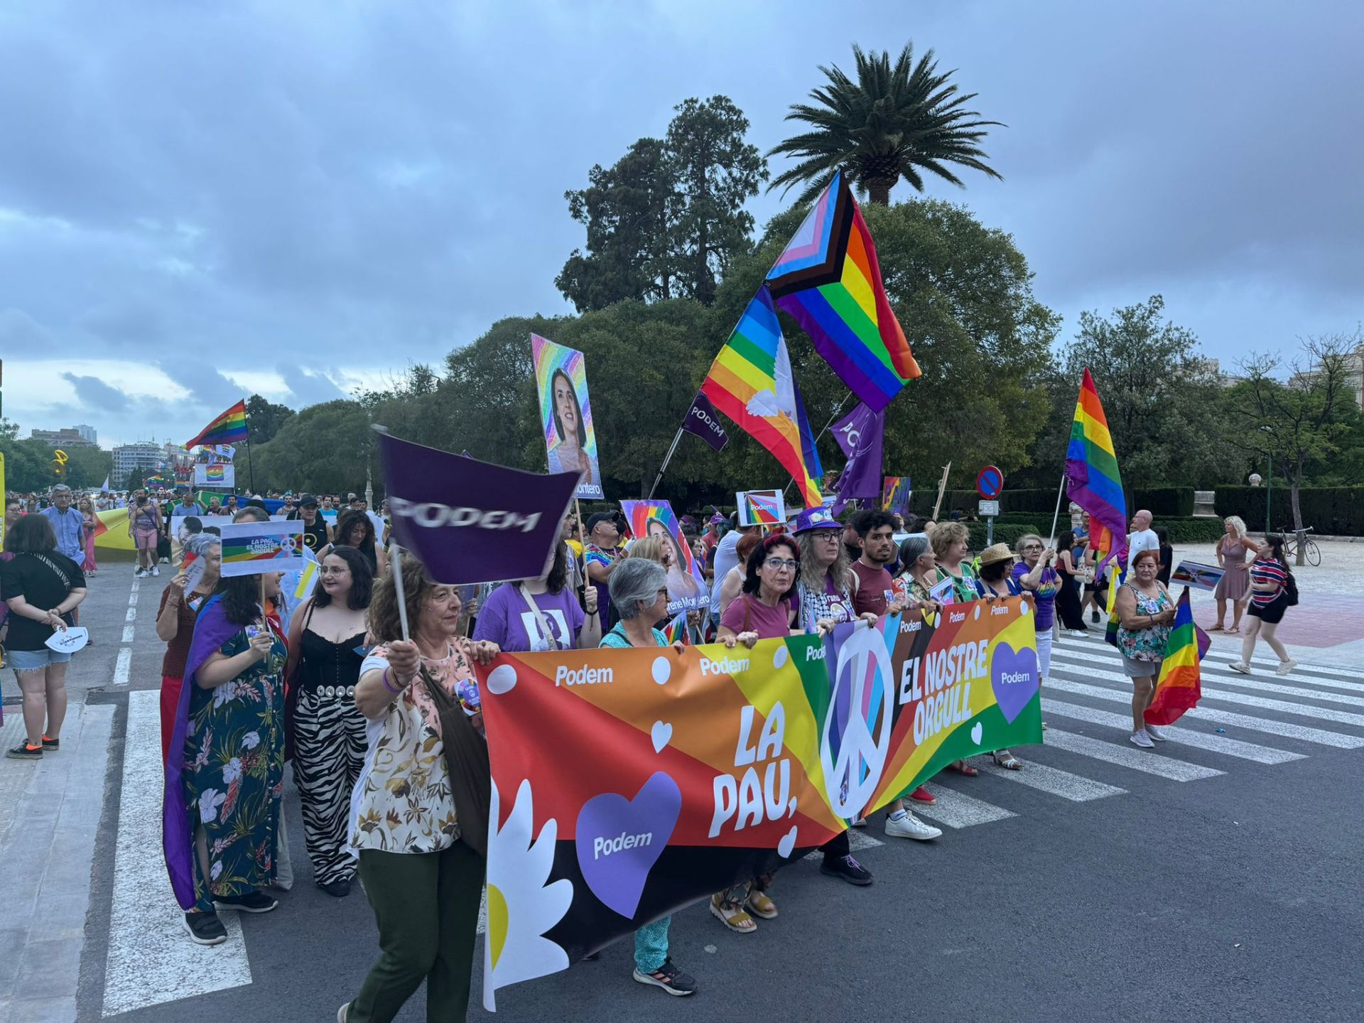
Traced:
<path id="1" fill-rule="evenodd" d="M 509 469 L 375 430 L 393 537 L 432 580 L 507 582 L 548 570 L 578 473 Z"/>

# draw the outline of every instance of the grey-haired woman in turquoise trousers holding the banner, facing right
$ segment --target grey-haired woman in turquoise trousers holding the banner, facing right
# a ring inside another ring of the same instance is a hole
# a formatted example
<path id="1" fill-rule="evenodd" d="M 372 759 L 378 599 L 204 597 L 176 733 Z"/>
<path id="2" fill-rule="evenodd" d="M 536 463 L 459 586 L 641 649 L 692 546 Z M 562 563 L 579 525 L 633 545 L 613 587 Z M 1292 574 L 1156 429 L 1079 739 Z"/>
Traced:
<path id="1" fill-rule="evenodd" d="M 668 612 L 668 577 L 649 558 L 626 558 L 611 573 L 611 607 L 621 621 L 602 637 L 602 647 L 667 647 L 668 637 L 653 627 Z M 682 653 L 682 644 L 672 648 Z M 645 923 L 634 932 L 634 979 L 662 988 L 668 994 L 692 994 L 696 978 L 682 973 L 668 955 L 671 917 Z"/>

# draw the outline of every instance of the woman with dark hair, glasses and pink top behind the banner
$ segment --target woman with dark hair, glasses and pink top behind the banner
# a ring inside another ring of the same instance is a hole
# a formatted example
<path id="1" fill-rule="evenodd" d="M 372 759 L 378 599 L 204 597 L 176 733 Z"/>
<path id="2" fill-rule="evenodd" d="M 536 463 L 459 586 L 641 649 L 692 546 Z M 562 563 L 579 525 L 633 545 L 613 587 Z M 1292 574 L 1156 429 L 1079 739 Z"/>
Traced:
<path id="1" fill-rule="evenodd" d="M 758 640 L 790 636 L 795 621 L 797 581 L 801 573 L 801 542 L 773 533 L 749 554 L 743 592 L 720 615 L 719 641 L 726 647 L 752 647 Z M 767 895 L 771 877 L 742 881 L 711 896 L 711 913 L 730 930 L 749 934 L 757 921 L 776 919 L 776 903 Z M 753 914 L 753 915 L 749 915 Z"/>

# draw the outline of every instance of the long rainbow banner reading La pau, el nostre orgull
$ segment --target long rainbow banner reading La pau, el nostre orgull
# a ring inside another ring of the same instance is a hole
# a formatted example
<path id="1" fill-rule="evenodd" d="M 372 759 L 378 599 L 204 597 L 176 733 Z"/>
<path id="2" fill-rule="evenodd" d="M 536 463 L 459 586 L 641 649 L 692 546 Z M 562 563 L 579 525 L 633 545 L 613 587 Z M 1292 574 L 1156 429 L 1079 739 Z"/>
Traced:
<path id="1" fill-rule="evenodd" d="M 947 764 L 1042 741 L 1030 599 L 752 649 L 503 653 L 484 1005 L 799 859 Z"/>

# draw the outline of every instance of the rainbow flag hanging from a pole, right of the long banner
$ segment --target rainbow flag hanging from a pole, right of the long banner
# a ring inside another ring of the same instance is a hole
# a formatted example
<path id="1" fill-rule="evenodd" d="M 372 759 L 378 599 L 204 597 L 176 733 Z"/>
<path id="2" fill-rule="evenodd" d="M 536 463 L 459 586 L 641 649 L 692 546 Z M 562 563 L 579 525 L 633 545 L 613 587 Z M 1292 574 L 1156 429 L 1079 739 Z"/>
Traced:
<path id="1" fill-rule="evenodd" d="M 1120 574 L 1127 569 L 1127 498 L 1117 454 L 1109 434 L 1108 417 L 1094 389 L 1090 368 L 1084 367 L 1080 397 L 1071 421 L 1071 443 L 1065 451 L 1067 494 L 1090 513 L 1090 546 L 1102 554 L 1095 567 L 1101 573 L 1112 558 Z"/>

